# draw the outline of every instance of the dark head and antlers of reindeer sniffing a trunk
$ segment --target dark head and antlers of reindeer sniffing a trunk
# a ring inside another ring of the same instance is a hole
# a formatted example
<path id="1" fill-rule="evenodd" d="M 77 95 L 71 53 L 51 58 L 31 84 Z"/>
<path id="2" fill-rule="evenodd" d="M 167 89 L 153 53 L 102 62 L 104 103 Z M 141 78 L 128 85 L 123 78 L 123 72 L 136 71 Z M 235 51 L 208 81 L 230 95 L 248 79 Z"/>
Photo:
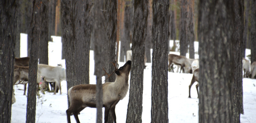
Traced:
<path id="1" fill-rule="evenodd" d="M 131 63 L 132 63 L 132 61 L 131 60 L 128 60 L 122 67 L 120 67 L 119 69 L 118 69 L 118 66 L 119 66 L 119 64 L 117 64 L 117 67 L 116 67 L 116 61 L 114 61 L 114 62 L 111 62 L 113 65 L 114 65 L 114 67 L 115 67 L 115 70 L 113 71 L 117 76 L 120 76 L 121 74 L 123 74 L 123 73 L 125 73 L 126 75 L 129 75 L 129 73 L 130 73 L 130 68 L 131 68 Z M 106 72 L 106 70 L 103 68 L 103 70 L 105 71 L 105 74 L 104 75 L 107 75 L 108 77 L 106 78 L 106 80 L 113 74 L 113 72 L 111 73 L 111 74 L 108 74 L 107 72 Z M 104 76 L 103 75 L 103 76 Z M 106 81 L 105 80 L 105 81 Z"/>

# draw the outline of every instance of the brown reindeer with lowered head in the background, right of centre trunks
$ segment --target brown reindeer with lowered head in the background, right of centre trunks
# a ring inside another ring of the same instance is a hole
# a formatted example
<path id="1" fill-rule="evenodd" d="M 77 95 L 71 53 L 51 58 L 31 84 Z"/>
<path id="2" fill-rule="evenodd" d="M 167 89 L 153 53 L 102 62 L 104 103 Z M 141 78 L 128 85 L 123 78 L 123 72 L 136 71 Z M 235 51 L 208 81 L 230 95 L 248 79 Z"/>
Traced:
<path id="1" fill-rule="evenodd" d="M 168 61 L 169 61 L 168 69 L 170 69 L 170 66 L 171 66 L 171 68 L 173 68 L 172 63 L 174 63 L 175 65 L 180 65 L 181 69 L 184 73 L 192 74 L 191 63 L 187 57 L 181 56 L 181 55 L 176 55 L 176 54 L 169 54 Z M 172 69 L 172 71 L 174 72 L 173 69 Z"/>

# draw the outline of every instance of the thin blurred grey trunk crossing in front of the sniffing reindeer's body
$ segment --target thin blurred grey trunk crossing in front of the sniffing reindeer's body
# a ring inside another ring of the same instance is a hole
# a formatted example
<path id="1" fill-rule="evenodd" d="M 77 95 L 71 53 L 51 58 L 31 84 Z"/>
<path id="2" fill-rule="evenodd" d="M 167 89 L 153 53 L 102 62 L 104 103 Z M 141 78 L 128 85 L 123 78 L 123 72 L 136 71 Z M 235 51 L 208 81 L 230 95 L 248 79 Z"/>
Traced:
<path id="1" fill-rule="evenodd" d="M 102 66 L 103 66 L 103 45 L 104 40 L 104 27 L 103 27 L 103 2 L 101 0 L 95 0 L 95 6 L 93 8 L 94 13 L 94 73 L 96 75 L 96 108 L 97 108 L 97 123 L 102 123 Z M 104 52 L 105 53 L 105 52 Z M 104 81 L 104 80 L 103 80 Z"/>

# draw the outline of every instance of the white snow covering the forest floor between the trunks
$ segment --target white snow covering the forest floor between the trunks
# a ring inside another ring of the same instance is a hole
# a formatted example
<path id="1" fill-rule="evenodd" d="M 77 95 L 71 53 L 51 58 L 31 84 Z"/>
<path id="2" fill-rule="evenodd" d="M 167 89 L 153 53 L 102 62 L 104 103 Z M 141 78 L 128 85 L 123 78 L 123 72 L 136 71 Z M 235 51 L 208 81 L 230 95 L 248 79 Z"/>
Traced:
<path id="1" fill-rule="evenodd" d="M 57 66 L 62 64 L 65 68 L 65 60 L 61 60 L 61 42 L 60 37 L 52 36 L 53 42 L 49 42 L 49 65 Z M 26 57 L 26 34 L 21 34 L 21 57 Z M 172 43 L 170 43 L 172 45 Z M 195 42 L 195 52 L 198 49 L 198 42 Z M 179 54 L 177 52 L 171 52 Z M 250 54 L 246 50 L 246 55 Z M 188 57 L 188 55 L 187 55 Z M 198 55 L 196 55 L 198 58 Z M 119 66 L 124 63 L 119 62 Z M 151 120 L 151 63 L 146 63 L 144 70 L 143 84 L 143 112 L 142 122 L 150 123 Z M 90 51 L 90 83 L 95 84 L 96 77 L 94 72 L 93 52 Z M 168 103 L 169 103 L 169 122 L 170 123 L 197 123 L 198 122 L 198 99 L 196 92 L 196 83 L 191 88 L 191 99 L 188 98 L 188 85 L 190 84 L 192 74 L 180 74 L 168 72 Z M 244 89 L 244 115 L 241 115 L 241 122 L 256 123 L 256 80 L 250 78 L 243 79 Z M 40 93 L 41 98 L 37 99 L 36 123 L 65 123 L 67 104 L 66 81 L 61 82 L 62 95 L 59 93 L 46 92 Z M 27 97 L 23 95 L 23 85 L 15 85 L 16 102 L 12 104 L 11 123 L 26 122 Z M 26 92 L 27 93 L 27 92 Z M 129 92 L 126 97 L 116 105 L 116 116 L 118 123 L 126 122 L 126 113 L 129 100 Z M 104 112 L 104 108 L 102 109 Z M 78 116 L 82 123 L 96 122 L 96 109 L 87 107 L 80 112 Z M 104 114 L 103 114 L 104 117 Z M 104 119 L 104 118 L 103 118 Z M 71 122 L 75 123 L 75 118 L 71 116 Z"/>

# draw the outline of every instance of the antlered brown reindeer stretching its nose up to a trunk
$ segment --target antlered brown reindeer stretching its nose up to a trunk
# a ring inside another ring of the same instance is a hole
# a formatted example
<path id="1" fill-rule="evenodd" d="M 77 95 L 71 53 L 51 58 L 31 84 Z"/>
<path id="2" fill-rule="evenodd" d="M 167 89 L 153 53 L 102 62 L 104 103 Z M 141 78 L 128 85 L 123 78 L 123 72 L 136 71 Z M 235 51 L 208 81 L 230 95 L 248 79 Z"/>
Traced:
<path id="1" fill-rule="evenodd" d="M 102 84 L 103 91 L 103 107 L 105 107 L 105 123 L 108 120 L 108 113 L 111 111 L 114 123 L 116 123 L 116 113 L 115 107 L 119 100 L 122 100 L 129 89 L 129 73 L 131 68 L 131 61 L 128 60 L 126 64 L 118 69 L 116 64 L 113 71 L 117 77 L 114 82 L 106 82 Z M 106 71 L 105 71 L 106 72 Z M 113 74 L 112 72 L 112 74 Z M 107 74 L 107 72 L 106 72 Z M 110 77 L 112 74 L 107 74 Z M 78 113 L 85 109 L 86 107 L 96 107 L 96 85 L 95 84 L 80 84 L 78 86 L 73 86 L 68 89 L 68 96 L 70 106 L 66 110 L 68 123 L 70 123 L 70 115 L 73 113 L 76 122 L 80 123 L 78 119 Z"/>

